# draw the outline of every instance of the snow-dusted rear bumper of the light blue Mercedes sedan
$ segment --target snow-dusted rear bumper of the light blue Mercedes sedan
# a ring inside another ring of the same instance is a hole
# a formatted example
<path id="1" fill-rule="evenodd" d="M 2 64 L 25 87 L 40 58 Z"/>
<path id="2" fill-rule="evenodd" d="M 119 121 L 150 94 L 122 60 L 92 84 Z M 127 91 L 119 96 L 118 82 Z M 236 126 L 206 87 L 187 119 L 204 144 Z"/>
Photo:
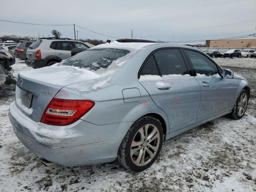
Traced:
<path id="1" fill-rule="evenodd" d="M 128 122 L 97 126 L 84 120 L 69 126 L 49 126 L 30 120 L 15 102 L 10 105 L 9 118 L 26 148 L 38 157 L 64 166 L 114 161 L 128 126 Z M 119 137 L 116 130 L 123 130 Z"/>

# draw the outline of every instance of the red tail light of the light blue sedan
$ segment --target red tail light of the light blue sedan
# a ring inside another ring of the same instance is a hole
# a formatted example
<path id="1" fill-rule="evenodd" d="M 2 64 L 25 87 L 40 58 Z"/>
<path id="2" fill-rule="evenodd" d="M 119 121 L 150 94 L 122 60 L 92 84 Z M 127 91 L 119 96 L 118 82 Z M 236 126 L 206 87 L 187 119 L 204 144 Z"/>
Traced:
<path id="1" fill-rule="evenodd" d="M 76 122 L 92 109 L 90 100 L 66 100 L 53 98 L 41 118 L 41 123 L 48 125 L 69 125 Z"/>

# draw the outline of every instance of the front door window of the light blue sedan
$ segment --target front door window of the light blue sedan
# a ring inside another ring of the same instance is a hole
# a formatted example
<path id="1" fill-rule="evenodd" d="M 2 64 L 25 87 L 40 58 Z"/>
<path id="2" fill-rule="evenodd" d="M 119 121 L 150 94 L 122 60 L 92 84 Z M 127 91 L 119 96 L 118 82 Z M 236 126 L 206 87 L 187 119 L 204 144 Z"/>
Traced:
<path id="1" fill-rule="evenodd" d="M 195 51 L 185 50 L 196 76 L 212 76 L 218 74 L 217 66 L 206 56 Z"/>

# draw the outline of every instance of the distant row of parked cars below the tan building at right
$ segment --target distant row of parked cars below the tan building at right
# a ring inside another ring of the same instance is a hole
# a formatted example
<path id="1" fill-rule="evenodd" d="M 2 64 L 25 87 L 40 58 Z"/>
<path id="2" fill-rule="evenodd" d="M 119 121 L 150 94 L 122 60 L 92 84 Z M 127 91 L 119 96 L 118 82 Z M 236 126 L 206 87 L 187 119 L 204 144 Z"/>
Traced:
<path id="1" fill-rule="evenodd" d="M 225 53 L 220 53 L 218 51 L 215 50 L 211 50 L 211 51 L 206 51 L 206 50 L 201 50 L 202 52 L 204 52 L 205 54 L 207 54 L 208 56 L 212 57 L 212 58 L 233 58 L 233 57 L 250 57 L 253 58 L 256 55 L 256 52 L 252 49 L 244 49 L 242 50 L 242 52 L 240 50 L 236 50 L 236 49 L 230 49 Z"/>

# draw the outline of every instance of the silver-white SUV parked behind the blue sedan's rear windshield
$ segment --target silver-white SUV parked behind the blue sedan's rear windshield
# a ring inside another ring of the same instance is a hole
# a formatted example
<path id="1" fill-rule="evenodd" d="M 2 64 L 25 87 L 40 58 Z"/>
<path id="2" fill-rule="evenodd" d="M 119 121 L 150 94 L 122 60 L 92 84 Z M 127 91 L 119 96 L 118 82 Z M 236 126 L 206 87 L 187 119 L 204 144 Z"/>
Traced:
<path id="1" fill-rule="evenodd" d="M 25 62 L 27 66 L 41 68 L 70 58 L 72 48 L 89 47 L 83 42 L 70 38 L 41 38 L 30 45 Z"/>

